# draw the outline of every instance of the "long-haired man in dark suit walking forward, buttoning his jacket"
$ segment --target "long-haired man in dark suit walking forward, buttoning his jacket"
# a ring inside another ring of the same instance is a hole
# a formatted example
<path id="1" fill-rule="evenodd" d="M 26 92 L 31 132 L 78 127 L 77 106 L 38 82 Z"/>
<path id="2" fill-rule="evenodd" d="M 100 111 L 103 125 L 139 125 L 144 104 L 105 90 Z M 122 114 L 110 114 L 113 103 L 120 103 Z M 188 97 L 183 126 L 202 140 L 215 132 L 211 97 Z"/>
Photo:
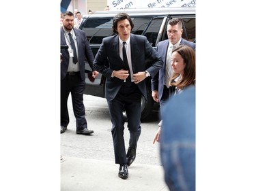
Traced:
<path id="1" fill-rule="evenodd" d="M 147 99 L 145 78 L 154 76 L 162 67 L 161 56 L 147 38 L 131 34 L 134 24 L 128 14 L 113 18 L 113 32 L 106 37 L 94 60 L 94 68 L 106 76 L 105 98 L 109 105 L 115 163 L 119 164 L 119 177 L 128 178 L 128 169 L 136 157 L 137 141 L 141 135 L 141 96 Z M 146 69 L 145 60 L 152 61 Z M 126 110 L 130 132 L 126 154 L 124 143 L 123 111 Z"/>

